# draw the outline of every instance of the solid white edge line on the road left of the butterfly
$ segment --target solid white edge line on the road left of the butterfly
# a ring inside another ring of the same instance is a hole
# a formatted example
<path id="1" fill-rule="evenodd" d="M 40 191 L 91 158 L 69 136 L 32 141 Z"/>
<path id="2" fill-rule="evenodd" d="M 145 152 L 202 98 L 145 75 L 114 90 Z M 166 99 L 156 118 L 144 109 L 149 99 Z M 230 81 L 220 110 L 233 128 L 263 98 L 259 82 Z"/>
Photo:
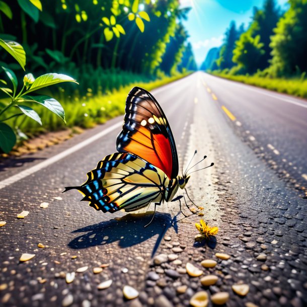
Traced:
<path id="1" fill-rule="evenodd" d="M 55 155 L 55 156 L 53 156 L 53 157 L 51 157 L 51 158 L 49 158 L 49 159 L 47 159 L 47 160 L 37 164 L 37 165 L 35 165 L 35 166 L 33 166 L 33 167 L 31 167 L 31 168 L 29 168 L 27 170 L 24 170 L 24 171 L 20 172 L 19 174 L 16 174 L 16 175 L 14 175 L 12 177 L 9 177 L 8 179 L 0 181 L 0 190 L 5 188 L 5 187 L 7 187 L 7 186 L 9 186 L 12 183 L 15 183 L 16 181 L 19 181 L 19 180 L 21 180 L 23 178 L 26 178 L 29 175 L 32 175 L 32 174 L 36 173 L 37 171 L 39 171 L 39 170 L 41 170 L 41 169 L 43 169 L 43 168 L 45 168 L 45 167 L 47 167 L 47 166 L 57 162 L 57 161 L 59 161 L 59 160 L 65 158 L 67 156 L 69 156 L 70 154 L 73 154 L 73 152 L 75 152 L 77 150 L 80 150 L 81 148 L 89 145 L 90 143 L 96 141 L 97 139 L 99 139 L 99 138 L 107 135 L 108 133 L 112 132 L 113 130 L 121 127 L 122 124 L 123 124 L 123 122 L 120 121 L 120 122 L 112 125 L 111 127 L 109 127 L 107 129 L 105 129 L 105 130 L 103 130 L 103 131 L 93 135 L 92 137 L 84 140 L 83 142 L 81 142 L 79 144 L 76 144 L 76 145 L 74 145 L 74 146 L 72 146 L 72 147 L 70 147 L 70 148 L 60 152 L 59 154 L 57 154 L 57 155 Z"/>

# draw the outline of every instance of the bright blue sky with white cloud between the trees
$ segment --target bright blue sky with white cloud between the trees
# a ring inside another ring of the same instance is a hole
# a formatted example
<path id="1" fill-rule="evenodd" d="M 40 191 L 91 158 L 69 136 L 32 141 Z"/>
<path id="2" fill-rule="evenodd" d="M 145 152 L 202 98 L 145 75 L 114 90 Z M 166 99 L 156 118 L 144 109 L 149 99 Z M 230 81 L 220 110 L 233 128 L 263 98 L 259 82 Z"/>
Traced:
<path id="1" fill-rule="evenodd" d="M 182 7 L 191 7 L 184 21 L 198 66 L 212 47 L 222 44 L 224 33 L 234 20 L 239 27 L 251 22 L 253 7 L 261 8 L 265 0 L 180 0 Z M 287 0 L 276 0 L 285 8 Z"/>

